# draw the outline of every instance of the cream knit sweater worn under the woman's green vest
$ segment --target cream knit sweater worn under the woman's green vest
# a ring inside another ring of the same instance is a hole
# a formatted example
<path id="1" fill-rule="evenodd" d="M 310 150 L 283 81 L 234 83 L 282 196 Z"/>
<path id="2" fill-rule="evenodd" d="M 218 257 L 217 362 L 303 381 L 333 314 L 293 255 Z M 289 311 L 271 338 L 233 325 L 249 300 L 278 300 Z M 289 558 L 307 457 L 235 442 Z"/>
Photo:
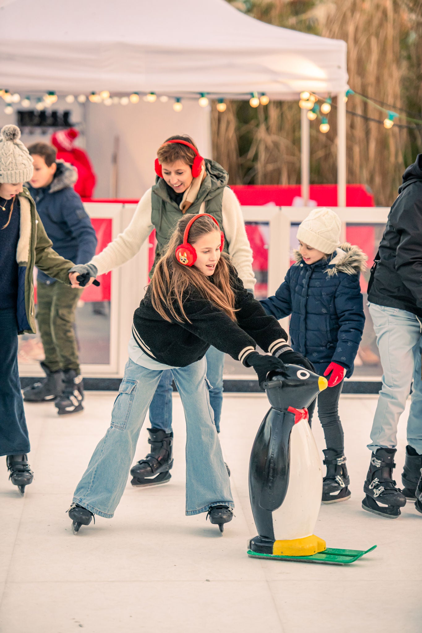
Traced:
<path id="1" fill-rule="evenodd" d="M 199 213 L 204 213 L 204 208 L 205 204 L 202 203 Z M 244 287 L 253 290 L 256 279 L 252 270 L 252 249 L 247 239 L 239 200 L 228 187 L 225 187 L 223 192 L 222 210 L 222 229 L 228 243 L 230 260 L 239 273 Z M 139 252 L 140 247 L 154 229 L 151 211 L 151 189 L 148 189 L 140 199 L 127 229 L 89 262 L 97 267 L 99 275 L 121 266 Z"/>

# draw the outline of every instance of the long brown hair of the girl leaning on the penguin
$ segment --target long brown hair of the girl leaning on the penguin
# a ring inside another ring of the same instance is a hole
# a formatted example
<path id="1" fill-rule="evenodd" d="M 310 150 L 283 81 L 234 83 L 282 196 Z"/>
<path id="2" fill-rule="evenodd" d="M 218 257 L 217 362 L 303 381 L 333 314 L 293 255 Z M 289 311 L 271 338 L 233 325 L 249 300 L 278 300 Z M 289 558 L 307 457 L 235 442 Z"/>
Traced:
<path id="1" fill-rule="evenodd" d="M 221 253 L 213 273 L 213 282 L 195 266 L 183 266 L 177 261 L 176 249 L 182 244 L 185 228 L 193 217 L 194 215 L 190 214 L 180 218 L 164 249 L 163 256 L 158 260 L 149 286 L 152 306 L 166 321 L 171 322 L 171 317 L 173 317 L 179 323 L 190 323 L 183 308 L 183 298 L 185 299 L 183 294 L 191 286 L 199 291 L 204 299 L 208 299 L 235 321 L 237 310 L 235 310 L 235 296 L 230 286 L 227 255 Z M 190 227 L 189 243 L 193 245 L 202 235 L 211 232 L 218 233 L 216 223 L 206 215 L 198 218 Z"/>

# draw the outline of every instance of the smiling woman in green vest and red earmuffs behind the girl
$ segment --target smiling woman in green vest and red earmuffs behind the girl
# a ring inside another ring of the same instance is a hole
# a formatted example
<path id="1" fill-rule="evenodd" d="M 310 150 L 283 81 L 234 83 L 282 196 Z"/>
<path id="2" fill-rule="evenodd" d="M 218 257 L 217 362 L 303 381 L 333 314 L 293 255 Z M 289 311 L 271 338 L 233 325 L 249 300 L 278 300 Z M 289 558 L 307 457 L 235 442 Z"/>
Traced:
<path id="1" fill-rule="evenodd" d="M 84 268 L 92 277 L 121 266 L 139 252 L 153 229 L 156 230 L 156 261 L 178 220 L 189 213 L 209 213 L 225 234 L 225 252 L 235 266 L 244 287 L 253 294 L 252 250 L 247 239 L 237 197 L 227 186 L 228 173 L 213 160 L 199 156 L 195 142 L 187 135 L 171 136 L 157 152 L 156 184 L 142 196 L 127 229 L 96 255 Z M 220 431 L 223 403 L 224 354 L 213 347 L 206 353 L 207 377 L 216 429 Z M 170 480 L 173 432 L 171 430 L 171 372 L 163 372 L 149 408 L 151 453 L 131 470 L 134 486 L 163 484 Z"/>

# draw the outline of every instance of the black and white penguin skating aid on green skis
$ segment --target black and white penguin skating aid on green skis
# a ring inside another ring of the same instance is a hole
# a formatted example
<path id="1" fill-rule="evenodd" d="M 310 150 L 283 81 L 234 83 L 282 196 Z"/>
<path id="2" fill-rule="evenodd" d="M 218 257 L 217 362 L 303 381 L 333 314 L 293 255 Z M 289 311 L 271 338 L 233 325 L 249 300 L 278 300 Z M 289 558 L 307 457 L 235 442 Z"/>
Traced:
<path id="1" fill-rule="evenodd" d="M 345 565 L 366 551 L 327 548 L 313 534 L 321 506 L 321 460 L 306 407 L 327 387 L 325 378 L 297 365 L 271 372 L 264 383 L 271 408 L 252 447 L 249 497 L 258 536 L 248 556 Z"/>

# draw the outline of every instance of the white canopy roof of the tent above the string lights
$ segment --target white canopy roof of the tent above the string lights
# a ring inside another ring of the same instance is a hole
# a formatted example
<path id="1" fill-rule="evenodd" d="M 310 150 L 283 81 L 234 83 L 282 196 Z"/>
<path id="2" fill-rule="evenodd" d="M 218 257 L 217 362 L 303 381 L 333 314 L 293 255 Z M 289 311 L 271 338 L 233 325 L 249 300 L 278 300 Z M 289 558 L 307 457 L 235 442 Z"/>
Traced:
<path id="1" fill-rule="evenodd" d="M 0 6 L 0 25 L 0 87 L 11 91 L 295 99 L 347 89 L 345 42 L 225 0 L 15 0 Z"/>

